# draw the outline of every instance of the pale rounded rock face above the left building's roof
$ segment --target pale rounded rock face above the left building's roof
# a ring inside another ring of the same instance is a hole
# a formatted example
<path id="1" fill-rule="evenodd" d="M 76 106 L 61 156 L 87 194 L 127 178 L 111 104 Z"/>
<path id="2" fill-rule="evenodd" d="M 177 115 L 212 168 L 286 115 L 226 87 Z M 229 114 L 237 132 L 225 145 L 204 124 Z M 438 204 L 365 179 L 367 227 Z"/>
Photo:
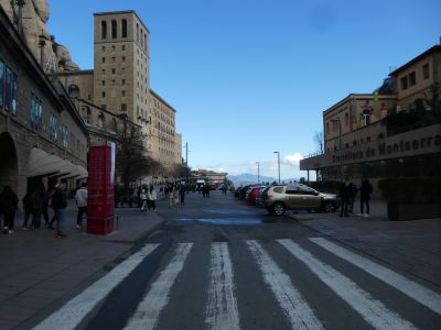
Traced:
<path id="1" fill-rule="evenodd" d="M 78 70 L 78 65 L 72 62 L 69 51 L 65 46 L 57 44 L 55 40 L 51 37 L 51 34 L 46 29 L 46 22 L 51 13 L 49 1 L 24 0 L 24 2 L 22 9 L 24 41 L 34 54 L 35 58 L 41 63 L 39 36 L 44 36 L 43 69 L 46 72 Z M 17 6 L 17 2 L 11 0 L 0 0 L 0 7 L 3 8 L 11 22 L 18 26 L 19 7 Z"/>

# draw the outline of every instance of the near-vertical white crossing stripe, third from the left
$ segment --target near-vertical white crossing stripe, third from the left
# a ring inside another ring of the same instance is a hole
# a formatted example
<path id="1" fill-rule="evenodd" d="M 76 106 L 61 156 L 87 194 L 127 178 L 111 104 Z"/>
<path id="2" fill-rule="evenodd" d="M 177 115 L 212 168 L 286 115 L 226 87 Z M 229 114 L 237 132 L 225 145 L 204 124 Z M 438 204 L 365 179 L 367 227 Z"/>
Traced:
<path id="1" fill-rule="evenodd" d="M 208 284 L 208 305 L 205 323 L 213 330 L 236 330 L 239 327 L 239 312 L 234 295 L 233 265 L 228 244 L 213 243 Z"/>

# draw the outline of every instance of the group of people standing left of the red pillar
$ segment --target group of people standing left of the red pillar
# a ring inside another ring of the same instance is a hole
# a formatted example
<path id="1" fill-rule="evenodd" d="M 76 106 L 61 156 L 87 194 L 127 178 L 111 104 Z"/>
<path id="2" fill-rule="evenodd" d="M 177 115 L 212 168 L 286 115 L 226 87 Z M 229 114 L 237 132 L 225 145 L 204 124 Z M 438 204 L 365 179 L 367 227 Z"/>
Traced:
<path id="1" fill-rule="evenodd" d="M 47 191 L 43 184 L 35 189 L 28 191 L 23 197 L 23 230 L 35 230 L 42 227 L 42 217 L 44 224 L 49 229 L 54 229 L 56 223 L 55 237 L 66 238 L 64 230 L 65 209 L 67 207 L 65 184 L 57 184 Z M 87 212 L 87 185 L 83 184 L 76 190 L 75 200 L 78 208 L 76 228 L 79 229 L 83 223 L 83 217 Z M 0 215 L 3 216 L 3 233 L 13 233 L 15 228 L 15 213 L 19 208 L 19 198 L 10 186 L 4 186 L 0 193 Z M 53 217 L 50 219 L 49 209 L 53 209 Z M 31 224 L 29 227 L 29 219 Z"/>

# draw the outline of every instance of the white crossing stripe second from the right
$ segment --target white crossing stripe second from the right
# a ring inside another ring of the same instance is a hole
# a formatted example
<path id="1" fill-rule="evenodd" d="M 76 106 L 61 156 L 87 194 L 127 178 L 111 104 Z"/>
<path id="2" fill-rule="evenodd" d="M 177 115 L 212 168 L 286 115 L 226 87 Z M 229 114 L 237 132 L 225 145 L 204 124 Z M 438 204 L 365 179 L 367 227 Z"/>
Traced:
<path id="1" fill-rule="evenodd" d="M 369 324 L 376 329 L 416 329 L 395 311 L 389 310 L 381 301 L 358 287 L 352 279 L 333 267 L 322 263 L 311 253 L 303 250 L 292 240 L 277 240 L 294 257 L 303 262 L 335 294 L 346 300 Z"/>

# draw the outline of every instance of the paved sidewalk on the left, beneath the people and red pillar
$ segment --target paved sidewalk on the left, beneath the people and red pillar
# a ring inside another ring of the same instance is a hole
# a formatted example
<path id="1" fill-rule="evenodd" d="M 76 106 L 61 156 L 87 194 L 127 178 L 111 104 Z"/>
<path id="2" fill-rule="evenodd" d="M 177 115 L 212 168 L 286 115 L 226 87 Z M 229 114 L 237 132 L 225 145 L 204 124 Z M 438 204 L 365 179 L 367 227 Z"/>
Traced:
<path id="1" fill-rule="evenodd" d="M 0 329 L 19 327 L 79 292 L 163 222 L 155 212 L 132 208 L 116 209 L 116 216 L 119 229 L 114 233 L 82 233 L 69 201 L 67 238 L 57 239 L 46 228 L 22 231 L 23 216 L 18 215 L 15 232 L 0 234 Z"/>

